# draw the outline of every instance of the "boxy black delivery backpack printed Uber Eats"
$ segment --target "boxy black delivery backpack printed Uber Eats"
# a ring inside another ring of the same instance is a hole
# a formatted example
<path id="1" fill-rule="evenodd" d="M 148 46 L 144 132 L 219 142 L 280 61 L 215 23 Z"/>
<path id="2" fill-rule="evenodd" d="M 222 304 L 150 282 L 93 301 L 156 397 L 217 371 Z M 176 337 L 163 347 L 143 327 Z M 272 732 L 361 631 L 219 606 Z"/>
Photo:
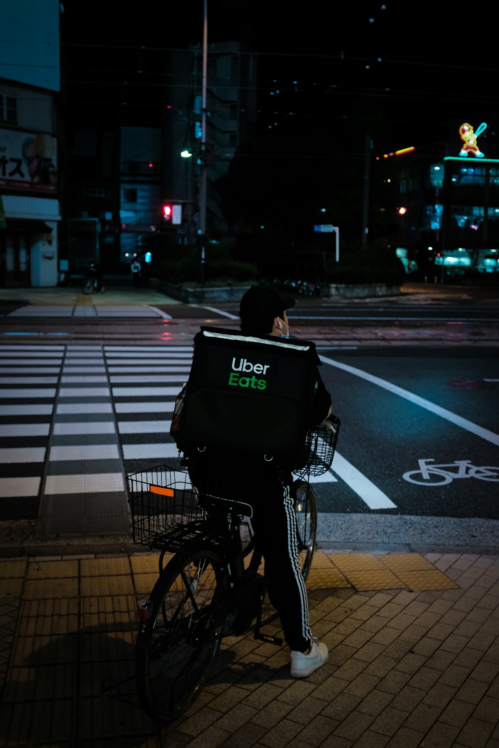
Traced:
<path id="1" fill-rule="evenodd" d="M 242 450 L 299 466 L 316 362 L 315 345 L 306 340 L 201 327 L 171 425 L 180 452 L 189 459 L 196 450 Z"/>

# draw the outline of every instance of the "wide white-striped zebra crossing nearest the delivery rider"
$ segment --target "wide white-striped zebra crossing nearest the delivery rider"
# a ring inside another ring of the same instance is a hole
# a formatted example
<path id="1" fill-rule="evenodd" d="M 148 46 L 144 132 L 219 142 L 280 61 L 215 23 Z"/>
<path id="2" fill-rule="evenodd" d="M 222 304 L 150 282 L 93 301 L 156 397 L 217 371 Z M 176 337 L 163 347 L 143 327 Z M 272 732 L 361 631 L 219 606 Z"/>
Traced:
<path id="1" fill-rule="evenodd" d="M 191 364 L 192 346 L 1 346 L 0 519 L 127 532 L 126 476 L 180 465 L 170 426 Z"/>

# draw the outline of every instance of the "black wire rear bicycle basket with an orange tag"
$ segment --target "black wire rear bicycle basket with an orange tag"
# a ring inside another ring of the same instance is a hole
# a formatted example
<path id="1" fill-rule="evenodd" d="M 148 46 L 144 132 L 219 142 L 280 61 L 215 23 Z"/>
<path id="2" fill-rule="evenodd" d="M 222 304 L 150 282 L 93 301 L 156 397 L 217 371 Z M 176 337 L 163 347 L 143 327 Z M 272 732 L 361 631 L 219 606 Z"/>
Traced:
<path id="1" fill-rule="evenodd" d="M 203 512 L 186 471 L 159 465 L 127 477 L 134 543 L 173 550 L 198 534 Z"/>

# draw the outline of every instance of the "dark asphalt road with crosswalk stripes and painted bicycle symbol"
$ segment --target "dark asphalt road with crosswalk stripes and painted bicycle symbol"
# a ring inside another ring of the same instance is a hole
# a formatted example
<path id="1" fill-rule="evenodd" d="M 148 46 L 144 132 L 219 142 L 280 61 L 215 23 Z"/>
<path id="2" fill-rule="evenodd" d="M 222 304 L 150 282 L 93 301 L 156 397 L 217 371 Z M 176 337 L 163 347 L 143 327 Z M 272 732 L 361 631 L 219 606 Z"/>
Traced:
<path id="1" fill-rule="evenodd" d="M 126 536 L 126 475 L 177 464 L 169 423 L 193 334 L 200 324 L 236 326 L 236 307 L 134 301 L 113 310 L 94 300 L 75 304 L 71 316 L 67 305 L 48 314 L 45 305 L 40 316 L 31 304 L 36 313 L 27 317 L 30 307 L 8 303 L 0 322 L 0 525 L 30 522 L 40 542 Z M 349 302 L 360 312 L 353 324 L 318 319 L 341 311 L 324 300 L 300 299 L 294 323 L 290 314 L 292 334 L 317 344 L 342 423 L 332 468 L 314 482 L 319 538 L 329 545 L 499 546 L 497 300 L 471 301 L 485 321 L 457 331 L 456 297 L 444 305 L 447 321 L 438 319 L 441 300 L 427 295 Z M 84 307 L 85 316 L 73 316 Z M 368 307 L 388 309 L 390 319 L 362 319 Z M 405 319 L 408 307 L 426 319 Z M 315 317 L 303 319 L 304 310 Z"/>

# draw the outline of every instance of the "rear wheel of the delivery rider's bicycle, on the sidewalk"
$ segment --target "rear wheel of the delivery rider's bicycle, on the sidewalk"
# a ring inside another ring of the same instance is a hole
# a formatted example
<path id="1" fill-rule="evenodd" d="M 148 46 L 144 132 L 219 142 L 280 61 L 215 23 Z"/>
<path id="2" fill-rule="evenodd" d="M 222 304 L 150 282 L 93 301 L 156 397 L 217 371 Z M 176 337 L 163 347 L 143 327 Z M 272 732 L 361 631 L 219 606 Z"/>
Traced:
<path id="1" fill-rule="evenodd" d="M 209 548 L 178 554 L 157 580 L 135 646 L 138 697 L 153 719 L 180 717 L 199 695 L 221 643 L 213 606 L 226 591 Z"/>

